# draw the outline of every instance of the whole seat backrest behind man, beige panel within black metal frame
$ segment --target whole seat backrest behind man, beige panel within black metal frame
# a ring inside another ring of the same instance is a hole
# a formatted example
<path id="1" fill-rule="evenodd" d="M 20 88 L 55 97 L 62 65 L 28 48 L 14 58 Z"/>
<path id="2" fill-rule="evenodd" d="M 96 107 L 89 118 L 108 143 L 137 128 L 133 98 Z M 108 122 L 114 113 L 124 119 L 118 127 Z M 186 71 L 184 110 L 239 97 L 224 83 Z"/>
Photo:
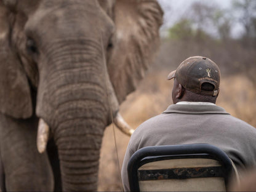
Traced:
<path id="1" fill-rule="evenodd" d="M 131 191 L 226 191 L 230 158 L 209 144 L 147 146 L 127 166 Z"/>

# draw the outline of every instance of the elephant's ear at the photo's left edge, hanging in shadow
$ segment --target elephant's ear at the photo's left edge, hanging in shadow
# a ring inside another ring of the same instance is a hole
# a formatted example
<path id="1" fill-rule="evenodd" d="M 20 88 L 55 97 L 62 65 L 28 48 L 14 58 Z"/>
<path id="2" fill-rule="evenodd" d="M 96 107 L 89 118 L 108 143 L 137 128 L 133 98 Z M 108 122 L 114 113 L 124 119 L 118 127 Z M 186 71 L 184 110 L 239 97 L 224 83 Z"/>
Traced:
<path id="1" fill-rule="evenodd" d="M 0 1 L 0 111 L 13 118 L 32 113 L 30 87 L 17 54 L 10 47 L 9 11 Z"/>

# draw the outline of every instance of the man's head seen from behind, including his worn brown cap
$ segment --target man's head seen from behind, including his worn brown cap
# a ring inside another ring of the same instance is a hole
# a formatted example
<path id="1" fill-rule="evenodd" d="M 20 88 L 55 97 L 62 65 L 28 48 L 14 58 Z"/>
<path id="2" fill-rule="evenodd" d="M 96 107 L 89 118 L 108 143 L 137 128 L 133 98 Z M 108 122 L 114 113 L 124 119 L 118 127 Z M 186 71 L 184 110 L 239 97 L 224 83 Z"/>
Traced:
<path id="1" fill-rule="evenodd" d="M 174 78 L 172 100 L 174 103 L 215 103 L 220 87 L 220 69 L 209 58 L 194 56 L 184 60 L 167 79 Z"/>

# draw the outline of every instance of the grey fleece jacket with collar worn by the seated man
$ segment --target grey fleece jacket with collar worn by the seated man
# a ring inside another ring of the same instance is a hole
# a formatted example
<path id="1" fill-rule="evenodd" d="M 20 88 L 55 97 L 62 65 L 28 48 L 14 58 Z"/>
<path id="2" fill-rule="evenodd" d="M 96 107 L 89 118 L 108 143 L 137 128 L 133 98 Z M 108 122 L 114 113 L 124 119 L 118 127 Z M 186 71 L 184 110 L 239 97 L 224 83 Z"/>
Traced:
<path id="1" fill-rule="evenodd" d="M 132 134 L 122 164 L 129 191 L 127 164 L 140 148 L 154 145 L 209 143 L 225 151 L 238 169 L 256 166 L 256 129 L 217 105 L 170 105 L 143 122 Z"/>

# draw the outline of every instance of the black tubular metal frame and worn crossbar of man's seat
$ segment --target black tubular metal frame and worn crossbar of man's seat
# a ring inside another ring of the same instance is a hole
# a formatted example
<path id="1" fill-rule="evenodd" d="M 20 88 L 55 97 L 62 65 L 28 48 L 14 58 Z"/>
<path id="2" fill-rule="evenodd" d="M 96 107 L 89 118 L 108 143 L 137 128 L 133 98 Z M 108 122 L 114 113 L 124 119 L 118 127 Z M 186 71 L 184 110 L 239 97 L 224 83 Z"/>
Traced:
<path id="1" fill-rule="evenodd" d="M 174 168 L 161 170 L 138 170 L 149 162 L 166 159 L 215 159 L 221 167 Z M 140 191 L 139 181 L 158 179 L 184 179 L 199 177 L 223 177 L 225 186 L 233 173 L 233 165 L 227 154 L 209 144 L 146 146 L 136 151 L 127 166 L 130 191 Z M 154 189 L 152 189 L 154 191 Z"/>

